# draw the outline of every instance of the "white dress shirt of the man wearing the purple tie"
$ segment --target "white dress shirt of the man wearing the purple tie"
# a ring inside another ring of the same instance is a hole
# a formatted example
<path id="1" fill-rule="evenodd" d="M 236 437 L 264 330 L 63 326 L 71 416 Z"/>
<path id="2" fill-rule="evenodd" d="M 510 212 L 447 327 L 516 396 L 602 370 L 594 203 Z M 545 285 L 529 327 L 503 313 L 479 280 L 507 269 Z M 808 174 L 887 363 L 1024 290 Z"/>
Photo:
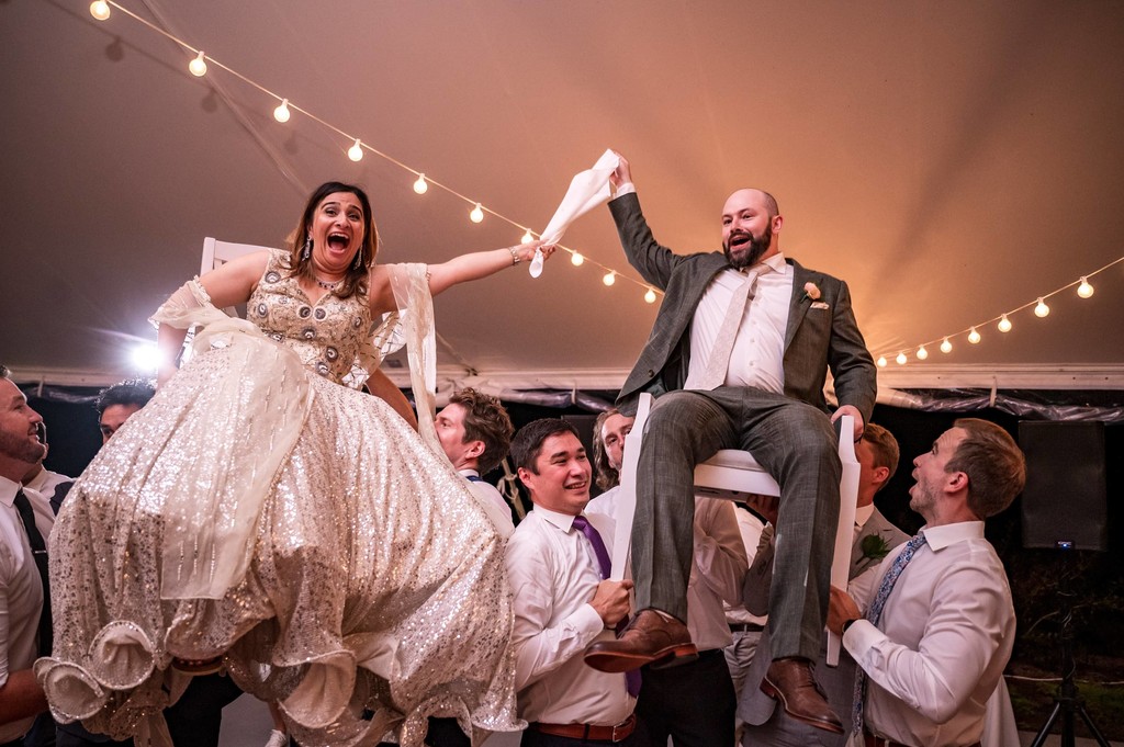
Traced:
<path id="1" fill-rule="evenodd" d="M 613 552 L 613 522 L 587 514 Z M 595 640 L 613 640 L 589 603 L 601 582 L 592 546 L 573 517 L 535 507 L 507 544 L 514 592 L 515 689 L 519 718 L 545 723 L 614 726 L 636 701 L 625 675 L 587 666 L 582 654 Z"/>

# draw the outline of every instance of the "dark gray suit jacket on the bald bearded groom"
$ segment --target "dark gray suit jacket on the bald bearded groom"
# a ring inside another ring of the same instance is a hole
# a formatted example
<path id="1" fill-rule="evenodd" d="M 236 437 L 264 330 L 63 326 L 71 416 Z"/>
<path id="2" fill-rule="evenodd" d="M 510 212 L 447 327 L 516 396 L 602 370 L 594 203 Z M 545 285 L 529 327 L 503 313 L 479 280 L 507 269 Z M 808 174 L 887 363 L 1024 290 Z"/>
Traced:
<path id="1" fill-rule="evenodd" d="M 714 276 L 728 266 L 720 252 L 678 255 L 656 243 L 635 194 L 609 202 L 628 262 L 645 281 L 664 292 L 652 335 L 625 381 L 617 406 L 636 411 L 642 392 L 660 394 L 682 389 L 690 358 L 690 325 L 695 309 Z M 795 271 L 788 329 L 785 335 L 785 393 L 827 411 L 824 382 L 828 368 L 840 404 L 852 404 L 870 419 L 877 394 L 877 367 L 855 324 L 846 283 L 804 268 Z M 812 309 L 805 283 L 815 283 L 827 309 Z"/>

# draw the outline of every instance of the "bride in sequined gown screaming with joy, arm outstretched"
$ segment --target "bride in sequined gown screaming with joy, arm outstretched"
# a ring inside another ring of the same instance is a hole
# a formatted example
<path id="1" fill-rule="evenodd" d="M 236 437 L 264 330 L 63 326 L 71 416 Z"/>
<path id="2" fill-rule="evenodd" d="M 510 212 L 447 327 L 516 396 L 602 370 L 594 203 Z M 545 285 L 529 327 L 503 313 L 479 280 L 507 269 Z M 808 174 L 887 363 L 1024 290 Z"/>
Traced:
<path id="1" fill-rule="evenodd" d="M 424 340 L 430 292 L 552 247 L 377 265 L 366 195 L 339 183 L 311 195 L 291 244 L 189 282 L 154 316 L 165 350 L 194 327 L 194 353 L 55 523 L 55 644 L 36 665 L 52 712 L 170 744 L 176 663 L 221 657 L 307 747 L 391 730 L 420 745 L 429 716 L 474 743 L 516 730 L 504 543 L 407 421 L 369 334 L 408 306 Z M 246 320 L 218 311 L 241 302 Z M 341 385 L 357 362 L 381 397 Z"/>

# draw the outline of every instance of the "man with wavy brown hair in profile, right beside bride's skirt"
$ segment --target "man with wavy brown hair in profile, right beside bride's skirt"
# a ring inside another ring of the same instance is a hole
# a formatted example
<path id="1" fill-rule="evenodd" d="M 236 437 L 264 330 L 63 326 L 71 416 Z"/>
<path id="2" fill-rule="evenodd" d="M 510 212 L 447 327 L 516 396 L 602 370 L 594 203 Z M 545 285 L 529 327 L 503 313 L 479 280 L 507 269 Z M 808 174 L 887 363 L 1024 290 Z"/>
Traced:
<path id="1" fill-rule="evenodd" d="M 500 535 L 515 530 L 511 509 L 495 486 L 483 481 L 504 461 L 511 444 L 511 418 L 495 397 L 466 388 L 448 398 L 434 420 L 437 440 L 453 467 L 469 482 Z"/>

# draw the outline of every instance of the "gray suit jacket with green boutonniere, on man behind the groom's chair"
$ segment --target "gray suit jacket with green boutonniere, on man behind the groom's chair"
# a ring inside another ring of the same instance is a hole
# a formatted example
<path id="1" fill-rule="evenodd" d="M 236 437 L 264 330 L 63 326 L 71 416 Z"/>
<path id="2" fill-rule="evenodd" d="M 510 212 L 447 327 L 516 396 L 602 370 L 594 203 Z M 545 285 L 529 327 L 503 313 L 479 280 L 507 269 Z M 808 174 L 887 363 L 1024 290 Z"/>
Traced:
<path id="1" fill-rule="evenodd" d="M 882 516 L 882 512 L 876 508 L 874 512 L 870 514 L 870 519 L 867 520 L 867 523 L 863 525 L 859 535 L 854 538 L 854 544 L 851 547 L 849 580 L 881 563 L 881 557 L 863 556 L 862 540 L 871 536 L 880 537 L 886 543 L 887 550 L 892 550 L 909 539 L 909 535 L 890 523 Z M 756 570 L 750 568 L 751 574 L 754 574 L 754 571 L 756 571 L 754 577 L 756 579 L 755 583 L 759 585 L 763 580 L 771 576 L 771 573 L 768 573 L 769 565 L 771 565 L 771 547 L 768 550 L 762 547 L 758 552 L 763 550 L 765 555 L 761 559 L 762 565 Z M 754 558 L 753 565 L 758 565 L 756 558 Z M 746 576 L 747 587 L 750 583 L 750 576 Z M 758 599 L 761 593 L 760 589 L 747 589 L 747 592 L 750 591 L 752 591 L 754 599 Z M 767 589 L 764 599 L 768 598 L 769 593 Z M 771 661 L 772 654 L 769 647 L 769 632 L 767 631 L 761 634 L 761 641 L 758 644 L 758 650 L 753 655 L 753 663 L 750 664 L 749 674 L 745 676 L 745 687 L 742 690 L 742 699 L 737 704 L 737 716 L 746 725 L 745 734 L 750 737 L 760 738 L 761 744 L 791 744 L 800 745 L 800 747 L 808 747 L 808 745 L 843 747 L 846 743 L 846 735 L 836 736 L 787 718 L 776 709 L 777 701 L 761 692 L 758 685 L 764 678 L 765 671 L 769 668 Z M 840 653 L 839 666 L 827 666 L 827 635 L 824 634 L 824 645 L 821 648 L 819 659 L 815 663 L 816 682 L 823 687 L 824 693 L 827 695 L 827 702 L 836 716 L 843 720 L 843 727 L 849 731 L 851 728 L 851 703 L 854 698 L 854 659 L 851 658 L 851 655 L 846 650 Z M 774 711 L 776 717 L 773 716 Z M 758 743 L 751 738 L 750 744 Z"/>

